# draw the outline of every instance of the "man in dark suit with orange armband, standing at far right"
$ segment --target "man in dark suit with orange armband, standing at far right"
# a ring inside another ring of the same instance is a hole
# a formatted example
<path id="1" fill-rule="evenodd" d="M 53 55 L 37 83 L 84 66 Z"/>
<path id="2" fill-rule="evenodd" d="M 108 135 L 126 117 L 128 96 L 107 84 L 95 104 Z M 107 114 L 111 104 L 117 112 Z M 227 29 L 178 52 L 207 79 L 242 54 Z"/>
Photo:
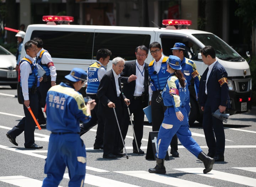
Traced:
<path id="1" fill-rule="evenodd" d="M 199 103 L 203 114 L 203 130 L 209 148 L 208 156 L 215 161 L 224 161 L 225 133 L 223 122 L 212 116 L 217 109 L 225 112 L 229 106 L 228 74 L 224 67 L 216 60 L 215 50 L 206 46 L 200 50 L 204 64 L 208 68 L 204 71 L 199 84 Z M 216 140 L 215 140 L 216 138 Z"/>

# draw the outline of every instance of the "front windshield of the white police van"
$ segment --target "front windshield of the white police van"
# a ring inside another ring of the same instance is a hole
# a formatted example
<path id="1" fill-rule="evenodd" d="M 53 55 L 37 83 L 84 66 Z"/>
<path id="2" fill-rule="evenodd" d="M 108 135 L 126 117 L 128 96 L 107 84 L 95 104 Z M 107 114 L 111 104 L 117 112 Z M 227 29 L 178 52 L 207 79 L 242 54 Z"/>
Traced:
<path id="1" fill-rule="evenodd" d="M 215 49 L 216 57 L 231 62 L 245 61 L 233 48 L 214 34 L 193 34 L 205 46 L 212 46 Z"/>

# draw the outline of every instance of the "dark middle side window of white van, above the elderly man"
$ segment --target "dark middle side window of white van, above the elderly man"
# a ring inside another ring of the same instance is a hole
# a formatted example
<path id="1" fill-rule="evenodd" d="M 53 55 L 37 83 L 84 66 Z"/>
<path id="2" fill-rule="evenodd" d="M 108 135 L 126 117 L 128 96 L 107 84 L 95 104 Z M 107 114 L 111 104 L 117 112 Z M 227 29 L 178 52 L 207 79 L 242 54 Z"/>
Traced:
<path id="1" fill-rule="evenodd" d="M 108 48 L 112 52 L 111 59 L 122 57 L 125 60 L 134 60 L 135 48 L 141 45 L 148 48 L 149 44 L 150 35 L 147 34 L 95 33 L 93 56 L 96 59 L 98 49 Z"/>

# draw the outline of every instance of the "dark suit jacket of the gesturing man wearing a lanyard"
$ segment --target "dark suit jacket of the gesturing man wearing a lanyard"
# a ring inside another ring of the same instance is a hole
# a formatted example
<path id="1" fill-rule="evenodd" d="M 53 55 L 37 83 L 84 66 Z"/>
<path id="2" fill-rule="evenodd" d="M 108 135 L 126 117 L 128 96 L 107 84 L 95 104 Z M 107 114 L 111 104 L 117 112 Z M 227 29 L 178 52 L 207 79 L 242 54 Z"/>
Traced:
<path id="1" fill-rule="evenodd" d="M 132 81 L 132 82 L 128 82 L 128 78 L 130 75 L 136 75 L 136 71 L 139 71 L 136 67 L 136 60 L 130 61 L 130 62 L 126 62 L 124 64 L 124 69 L 123 72 L 121 73 L 121 82 L 123 83 L 123 92 L 124 94 L 127 96 L 128 99 L 132 100 L 133 98 L 133 94 L 135 91 L 135 84 L 136 81 Z M 145 100 L 146 100 L 146 104 L 148 104 L 148 64 L 145 63 L 144 66 L 144 88 L 145 88 Z"/>

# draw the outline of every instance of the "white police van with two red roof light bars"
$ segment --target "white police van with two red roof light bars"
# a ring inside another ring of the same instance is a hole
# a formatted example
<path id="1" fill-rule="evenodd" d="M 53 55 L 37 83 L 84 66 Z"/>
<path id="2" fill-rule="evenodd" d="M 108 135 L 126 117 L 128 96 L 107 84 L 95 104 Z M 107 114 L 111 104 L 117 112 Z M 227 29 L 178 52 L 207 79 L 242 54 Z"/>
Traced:
<path id="1" fill-rule="evenodd" d="M 199 50 L 204 46 L 212 46 L 219 63 L 228 73 L 231 100 L 229 113 L 242 113 L 251 109 L 252 80 L 249 64 L 214 34 L 187 29 L 191 24 L 189 20 L 163 20 L 162 24 L 166 25 L 166 28 L 69 25 L 69 22 L 73 21 L 73 17 L 69 16 L 44 16 L 43 21 L 47 24 L 27 27 L 24 42 L 34 37 L 42 38 L 43 47 L 52 55 L 57 68 L 58 82 L 62 81 L 64 75 L 74 67 L 87 71 L 89 65 L 95 62 L 97 50 L 100 48 L 110 49 L 111 58 L 134 60 L 137 46 L 149 47 L 154 41 L 161 44 L 166 56 L 172 54 L 170 48 L 174 43 L 184 43 L 187 46 L 187 57 L 196 63 L 197 70 L 202 75 L 207 66 L 200 59 Z M 68 24 L 57 25 L 56 22 Z M 21 55 L 25 55 L 24 47 Z M 149 53 L 146 62 L 150 63 L 151 60 L 153 58 Z M 108 65 L 108 69 L 110 68 L 111 65 Z M 190 101 L 190 124 L 196 120 L 200 122 L 202 111 L 195 99 L 193 88 Z"/>

